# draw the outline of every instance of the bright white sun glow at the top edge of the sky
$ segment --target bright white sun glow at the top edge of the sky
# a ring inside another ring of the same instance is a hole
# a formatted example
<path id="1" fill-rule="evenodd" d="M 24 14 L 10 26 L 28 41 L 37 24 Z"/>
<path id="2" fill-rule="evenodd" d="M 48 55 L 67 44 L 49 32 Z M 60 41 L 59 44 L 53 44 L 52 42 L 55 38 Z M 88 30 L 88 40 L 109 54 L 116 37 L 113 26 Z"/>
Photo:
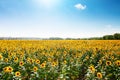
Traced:
<path id="1" fill-rule="evenodd" d="M 58 0 L 35 0 L 39 5 L 42 5 L 46 8 L 55 6 L 58 3 Z"/>

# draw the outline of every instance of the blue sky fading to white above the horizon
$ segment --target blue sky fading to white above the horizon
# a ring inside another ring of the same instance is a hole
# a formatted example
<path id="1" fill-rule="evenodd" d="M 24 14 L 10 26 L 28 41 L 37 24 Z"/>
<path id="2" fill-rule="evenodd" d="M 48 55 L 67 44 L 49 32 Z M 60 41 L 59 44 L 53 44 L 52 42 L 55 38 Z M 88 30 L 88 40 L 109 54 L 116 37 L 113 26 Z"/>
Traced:
<path id="1" fill-rule="evenodd" d="M 0 0 L 0 37 L 99 37 L 120 32 L 120 0 Z"/>

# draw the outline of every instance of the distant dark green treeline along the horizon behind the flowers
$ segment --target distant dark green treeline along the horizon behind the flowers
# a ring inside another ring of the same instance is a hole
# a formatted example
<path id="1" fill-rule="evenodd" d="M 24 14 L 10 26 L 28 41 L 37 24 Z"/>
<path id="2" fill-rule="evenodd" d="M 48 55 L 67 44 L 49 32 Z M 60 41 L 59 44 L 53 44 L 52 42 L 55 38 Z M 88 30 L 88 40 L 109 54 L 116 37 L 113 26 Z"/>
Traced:
<path id="1" fill-rule="evenodd" d="M 0 37 L 0 40 L 120 40 L 120 33 L 113 35 L 104 35 L 103 37 L 91 37 L 91 38 L 26 38 L 26 37 Z"/>

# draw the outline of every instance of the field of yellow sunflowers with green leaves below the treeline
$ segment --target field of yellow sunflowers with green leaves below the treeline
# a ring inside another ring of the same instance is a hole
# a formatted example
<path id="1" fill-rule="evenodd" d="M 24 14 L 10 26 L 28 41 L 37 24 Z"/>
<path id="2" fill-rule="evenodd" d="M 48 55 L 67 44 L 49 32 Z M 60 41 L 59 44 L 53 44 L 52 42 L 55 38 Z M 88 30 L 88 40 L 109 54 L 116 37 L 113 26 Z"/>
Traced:
<path id="1" fill-rule="evenodd" d="M 0 40 L 0 80 L 120 80 L 120 40 Z"/>

